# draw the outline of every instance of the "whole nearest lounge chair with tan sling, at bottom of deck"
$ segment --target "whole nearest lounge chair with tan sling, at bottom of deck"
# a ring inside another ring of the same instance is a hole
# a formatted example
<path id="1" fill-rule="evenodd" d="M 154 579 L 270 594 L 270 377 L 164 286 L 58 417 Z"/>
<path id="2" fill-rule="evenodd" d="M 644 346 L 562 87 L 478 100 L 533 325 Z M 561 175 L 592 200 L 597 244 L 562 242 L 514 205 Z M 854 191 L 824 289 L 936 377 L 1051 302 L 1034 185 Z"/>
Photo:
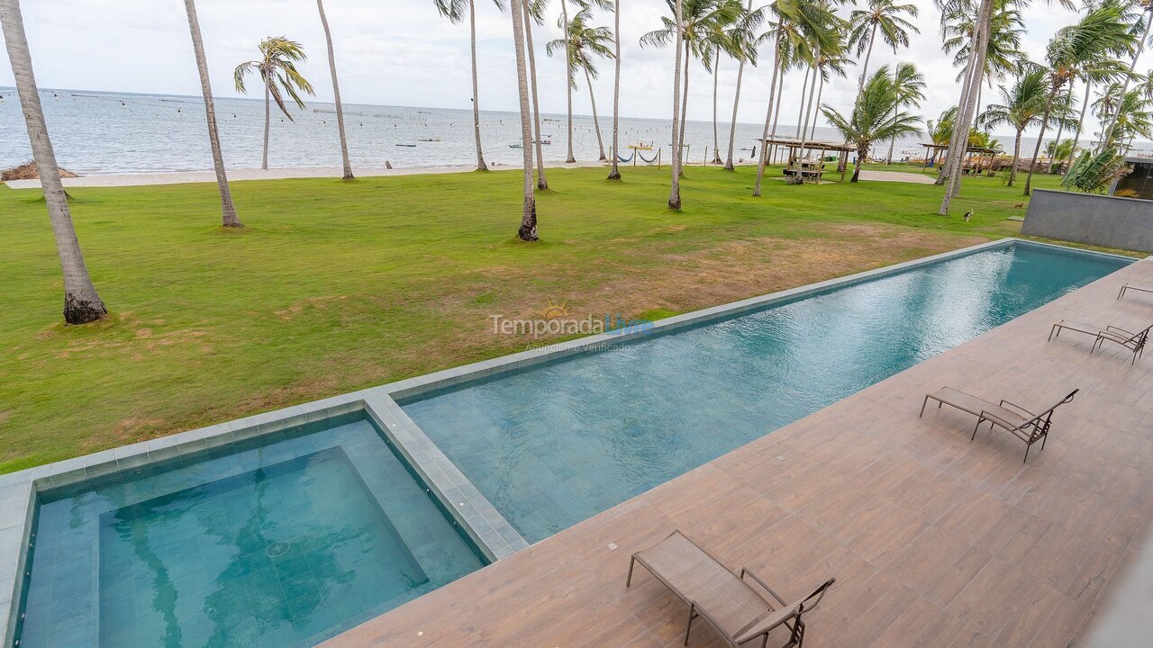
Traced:
<path id="1" fill-rule="evenodd" d="M 635 563 L 645 565 L 645 568 L 688 605 L 685 646 L 688 646 L 693 619 L 700 616 L 734 648 L 756 639 L 761 640 L 761 648 L 764 648 L 769 633 L 782 625 L 789 631 L 789 640 L 782 648 L 800 648 L 805 640 L 802 616 L 821 602 L 824 593 L 836 581 L 829 579 L 804 598 L 785 603 L 753 572 L 741 570 L 738 577 L 679 530 L 672 532 L 655 547 L 633 553 L 628 562 L 625 587 L 632 585 Z M 746 575 L 773 596 L 773 601 L 754 589 L 745 580 Z"/>

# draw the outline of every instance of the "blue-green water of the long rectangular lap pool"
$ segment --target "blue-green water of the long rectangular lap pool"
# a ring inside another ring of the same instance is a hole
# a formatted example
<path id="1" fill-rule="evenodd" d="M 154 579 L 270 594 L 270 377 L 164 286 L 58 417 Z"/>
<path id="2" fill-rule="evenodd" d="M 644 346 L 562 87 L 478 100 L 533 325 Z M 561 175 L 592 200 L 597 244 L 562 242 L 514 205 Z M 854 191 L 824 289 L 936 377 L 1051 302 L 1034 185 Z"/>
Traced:
<path id="1" fill-rule="evenodd" d="M 401 406 L 534 542 L 1124 264 L 1012 244 Z"/>

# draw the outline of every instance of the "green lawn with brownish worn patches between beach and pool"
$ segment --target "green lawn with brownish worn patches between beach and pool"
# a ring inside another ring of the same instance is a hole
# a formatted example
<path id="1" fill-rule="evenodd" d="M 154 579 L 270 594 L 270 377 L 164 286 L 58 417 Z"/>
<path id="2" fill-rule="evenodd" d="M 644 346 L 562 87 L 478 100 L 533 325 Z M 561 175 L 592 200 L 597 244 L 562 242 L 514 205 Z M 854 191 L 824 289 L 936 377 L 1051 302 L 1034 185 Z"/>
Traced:
<path id="1" fill-rule="evenodd" d="M 39 191 L 0 188 L 0 472 L 534 341 L 489 314 L 664 316 L 1015 235 L 1024 214 L 1000 179 L 966 180 L 941 218 L 933 186 L 773 180 L 753 198 L 753 169 L 701 167 L 672 213 L 666 168 L 623 172 L 550 169 L 534 244 L 514 239 L 519 172 L 236 182 L 242 232 L 218 227 L 214 184 L 73 189 L 112 312 L 85 326 L 62 324 Z"/>

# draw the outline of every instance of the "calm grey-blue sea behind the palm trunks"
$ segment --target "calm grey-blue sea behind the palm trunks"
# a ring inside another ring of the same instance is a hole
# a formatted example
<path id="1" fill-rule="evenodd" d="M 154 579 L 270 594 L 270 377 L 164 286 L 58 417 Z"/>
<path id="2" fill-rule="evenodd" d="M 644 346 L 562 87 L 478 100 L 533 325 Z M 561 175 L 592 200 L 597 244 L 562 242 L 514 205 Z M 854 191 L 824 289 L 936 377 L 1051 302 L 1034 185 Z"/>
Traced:
<path id="1" fill-rule="evenodd" d="M 204 126 L 204 103 L 199 97 L 128 95 L 70 90 L 43 90 L 42 103 L 48 131 L 60 164 L 82 174 L 198 171 L 211 168 L 212 159 Z M 274 110 L 274 108 L 273 108 Z M 704 106 L 694 108 L 694 112 Z M 731 106 L 729 108 L 731 110 Z M 698 113 L 700 114 L 700 113 Z M 220 140 L 229 168 L 259 168 L 264 104 L 254 99 L 217 99 Z M 340 166 L 337 122 L 332 104 L 310 103 L 294 111 L 295 121 L 276 115 L 272 121 L 269 165 L 272 167 Z M 551 140 L 544 146 L 547 160 L 565 158 L 565 115 L 545 114 L 541 129 Z M 601 115 L 605 149 L 611 144 L 611 111 Z M 796 115 L 794 115 L 796 116 Z M 347 104 L 349 155 L 357 167 L 468 165 L 476 160 L 472 111 Z M 784 119 L 784 115 L 782 115 Z M 737 127 L 734 157 L 751 158 L 749 148 L 761 135 L 760 125 Z M 669 159 L 669 120 L 620 120 L 621 150 L 645 142 L 663 148 Z M 778 134 L 792 136 L 794 126 L 779 126 Z M 817 128 L 821 140 L 838 140 L 828 128 Z M 521 151 L 518 113 L 483 111 L 481 137 L 485 159 L 499 165 L 519 165 Z M 728 125 L 721 126 L 721 146 L 728 148 Z M 434 140 L 429 142 L 429 140 Z M 898 143 L 898 150 L 915 146 L 919 138 Z M 689 121 L 686 127 L 686 158 L 700 164 L 706 148 L 713 150 L 711 122 Z M 415 146 L 413 146 L 415 144 Z M 597 158 L 591 116 L 574 116 L 573 148 L 576 159 Z M 645 152 L 646 157 L 656 150 Z M 879 148 L 882 152 L 887 146 Z M 722 158 L 724 155 L 722 153 Z M 0 168 L 31 159 L 23 116 L 15 90 L 0 88 Z"/>

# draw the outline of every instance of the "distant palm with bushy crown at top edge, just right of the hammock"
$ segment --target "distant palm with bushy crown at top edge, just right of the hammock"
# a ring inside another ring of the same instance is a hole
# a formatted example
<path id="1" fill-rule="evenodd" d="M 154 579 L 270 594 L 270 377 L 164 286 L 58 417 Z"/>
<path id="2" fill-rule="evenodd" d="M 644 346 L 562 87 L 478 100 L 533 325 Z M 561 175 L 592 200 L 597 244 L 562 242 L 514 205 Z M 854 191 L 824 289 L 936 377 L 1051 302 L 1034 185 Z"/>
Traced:
<path id="1" fill-rule="evenodd" d="M 676 14 L 673 0 L 665 1 L 669 3 L 670 10 Z M 694 56 L 702 61 L 711 60 L 714 46 L 723 42 L 723 36 L 719 35 L 733 24 L 744 14 L 744 10 L 740 0 L 683 0 L 679 23 L 668 16 L 661 16 L 663 27 L 641 37 L 642 47 L 660 47 L 672 40 L 676 33 L 681 35 L 681 46 L 685 50 L 685 83 L 680 99 L 680 142 L 685 140 L 685 122 L 688 114 L 688 70 L 692 67 L 692 60 Z M 708 63 L 706 63 L 706 68 L 708 68 Z"/>

